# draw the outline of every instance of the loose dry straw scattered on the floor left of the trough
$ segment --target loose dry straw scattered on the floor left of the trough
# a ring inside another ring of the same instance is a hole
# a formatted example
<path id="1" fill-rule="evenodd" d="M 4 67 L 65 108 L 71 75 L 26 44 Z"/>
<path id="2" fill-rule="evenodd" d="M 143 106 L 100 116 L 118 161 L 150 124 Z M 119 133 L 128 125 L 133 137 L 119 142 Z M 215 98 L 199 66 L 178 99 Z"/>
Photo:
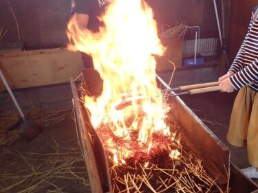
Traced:
<path id="1" fill-rule="evenodd" d="M 56 140 L 52 152 L 11 152 L 3 150 L 15 161 L 8 163 L 13 170 L 0 171 L 0 192 L 64 192 L 67 184 L 77 184 L 76 189 L 89 183 L 80 148 L 61 148 Z"/>

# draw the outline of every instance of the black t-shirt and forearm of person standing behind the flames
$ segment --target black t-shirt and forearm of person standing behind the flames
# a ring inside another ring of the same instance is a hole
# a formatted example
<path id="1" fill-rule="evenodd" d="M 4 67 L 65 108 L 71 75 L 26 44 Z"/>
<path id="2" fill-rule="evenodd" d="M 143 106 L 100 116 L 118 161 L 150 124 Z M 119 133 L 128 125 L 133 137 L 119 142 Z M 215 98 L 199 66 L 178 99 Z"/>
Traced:
<path id="1" fill-rule="evenodd" d="M 87 28 L 97 32 L 100 23 L 98 16 L 105 14 L 112 0 L 75 0 L 74 12 L 89 15 Z"/>

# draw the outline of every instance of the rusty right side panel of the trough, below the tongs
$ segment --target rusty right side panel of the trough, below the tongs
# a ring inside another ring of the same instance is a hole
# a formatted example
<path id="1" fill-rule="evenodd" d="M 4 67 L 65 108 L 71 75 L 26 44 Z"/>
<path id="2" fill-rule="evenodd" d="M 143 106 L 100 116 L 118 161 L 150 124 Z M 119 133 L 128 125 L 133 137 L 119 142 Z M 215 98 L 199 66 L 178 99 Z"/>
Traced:
<path id="1" fill-rule="evenodd" d="M 161 78 L 158 80 L 160 80 L 161 87 L 169 89 L 169 86 Z M 169 98 L 169 103 L 173 104 L 173 117 L 180 126 L 180 132 L 186 138 L 184 140 L 186 146 L 202 157 L 204 167 L 210 170 L 209 173 L 217 178 L 220 184 L 227 183 L 228 148 L 178 96 Z"/>

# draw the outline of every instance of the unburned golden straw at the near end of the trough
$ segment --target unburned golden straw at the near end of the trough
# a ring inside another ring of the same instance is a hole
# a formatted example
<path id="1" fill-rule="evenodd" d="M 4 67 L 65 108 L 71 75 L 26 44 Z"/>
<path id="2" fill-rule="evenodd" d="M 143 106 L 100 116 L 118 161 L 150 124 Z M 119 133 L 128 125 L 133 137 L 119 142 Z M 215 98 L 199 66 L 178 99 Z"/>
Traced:
<path id="1" fill-rule="evenodd" d="M 202 161 L 188 155 L 169 161 L 166 168 L 149 166 L 113 166 L 110 169 L 114 192 L 224 192 L 202 166 Z"/>

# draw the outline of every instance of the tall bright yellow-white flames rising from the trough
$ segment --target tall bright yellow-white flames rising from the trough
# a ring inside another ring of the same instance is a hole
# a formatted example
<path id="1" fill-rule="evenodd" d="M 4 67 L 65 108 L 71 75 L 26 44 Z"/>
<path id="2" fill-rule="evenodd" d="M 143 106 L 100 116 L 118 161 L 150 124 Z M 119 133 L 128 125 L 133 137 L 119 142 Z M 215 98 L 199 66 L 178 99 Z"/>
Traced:
<path id="1" fill-rule="evenodd" d="M 105 26 L 93 33 L 80 29 L 72 18 L 67 27 L 72 42 L 69 49 L 90 54 L 94 69 L 104 80 L 103 93 L 98 98 L 85 96 L 85 107 L 95 128 L 112 123 L 110 129 L 123 146 L 114 146 L 111 137 L 105 146 L 115 163 L 125 163 L 134 152 L 132 130 L 138 131 L 138 146 L 148 153 L 154 146 L 153 133 L 171 136 L 164 122 L 167 108 L 155 80 L 154 57 L 161 56 L 164 47 L 153 12 L 142 0 L 114 1 L 101 21 Z M 118 109 L 123 102 L 129 105 Z M 134 117 L 132 121 L 130 117 Z"/>

